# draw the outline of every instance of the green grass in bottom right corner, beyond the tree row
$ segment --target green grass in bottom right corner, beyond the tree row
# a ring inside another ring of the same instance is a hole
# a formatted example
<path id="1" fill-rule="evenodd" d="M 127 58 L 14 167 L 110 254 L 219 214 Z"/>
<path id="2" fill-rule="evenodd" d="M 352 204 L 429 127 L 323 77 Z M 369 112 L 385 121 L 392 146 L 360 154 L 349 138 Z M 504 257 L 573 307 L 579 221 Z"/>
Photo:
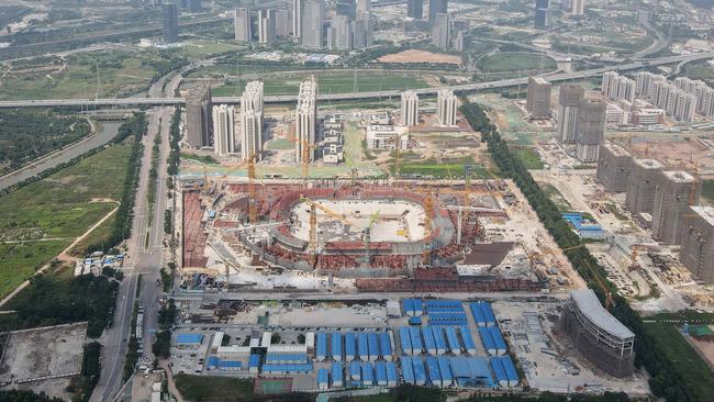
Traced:
<path id="1" fill-rule="evenodd" d="M 674 365 L 674 371 L 682 376 L 685 388 L 694 394 L 695 399 L 711 401 L 714 392 L 714 373 L 677 327 L 669 323 L 645 323 L 645 331 L 665 349 L 665 354 Z"/>

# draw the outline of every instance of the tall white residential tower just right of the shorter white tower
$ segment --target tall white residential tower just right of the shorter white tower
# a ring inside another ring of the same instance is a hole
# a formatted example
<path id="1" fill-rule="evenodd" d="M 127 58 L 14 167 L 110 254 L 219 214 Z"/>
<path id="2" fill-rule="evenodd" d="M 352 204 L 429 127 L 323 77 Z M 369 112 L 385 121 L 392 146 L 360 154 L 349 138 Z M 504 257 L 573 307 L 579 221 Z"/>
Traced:
<path id="1" fill-rule="evenodd" d="M 241 97 L 241 157 L 247 160 L 263 152 L 263 82 L 250 81 Z"/>

